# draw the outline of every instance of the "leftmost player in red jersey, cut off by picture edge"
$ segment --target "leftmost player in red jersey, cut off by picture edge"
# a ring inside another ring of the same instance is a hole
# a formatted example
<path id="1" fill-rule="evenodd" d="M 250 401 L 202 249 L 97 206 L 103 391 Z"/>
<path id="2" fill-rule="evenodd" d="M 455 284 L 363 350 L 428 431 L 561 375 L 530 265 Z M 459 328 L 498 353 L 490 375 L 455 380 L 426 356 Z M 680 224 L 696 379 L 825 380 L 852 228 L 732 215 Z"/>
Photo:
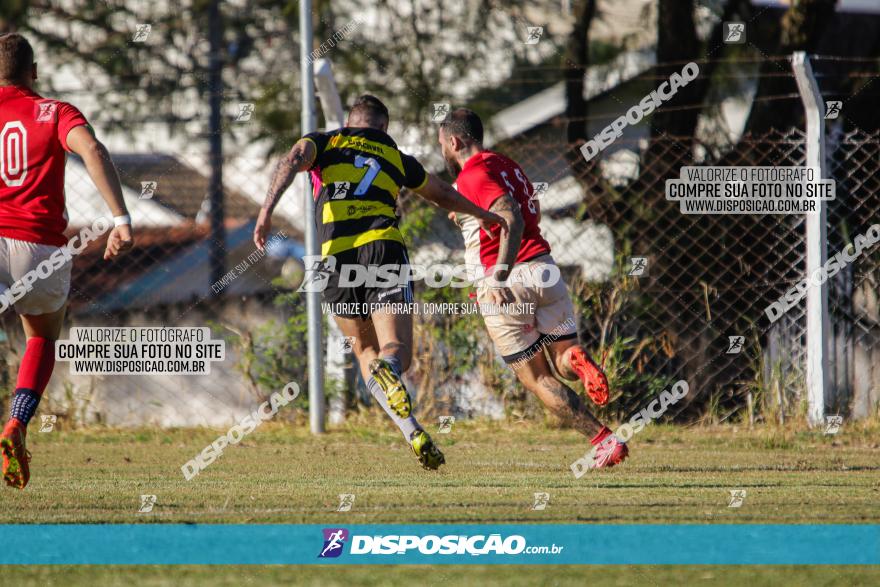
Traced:
<path id="1" fill-rule="evenodd" d="M 55 366 L 70 290 L 64 230 L 64 165 L 79 155 L 114 216 L 104 259 L 132 246 L 131 218 L 107 149 L 85 117 L 65 102 L 33 91 L 34 51 L 16 33 L 0 35 L 0 295 L 21 318 L 27 346 L 18 370 L 9 421 L 0 434 L 3 479 L 24 489 L 30 478 L 27 425 Z M 38 269 L 39 268 L 39 269 Z M 48 273 L 48 275 L 46 275 Z M 23 295 L 21 295 L 23 292 Z"/>

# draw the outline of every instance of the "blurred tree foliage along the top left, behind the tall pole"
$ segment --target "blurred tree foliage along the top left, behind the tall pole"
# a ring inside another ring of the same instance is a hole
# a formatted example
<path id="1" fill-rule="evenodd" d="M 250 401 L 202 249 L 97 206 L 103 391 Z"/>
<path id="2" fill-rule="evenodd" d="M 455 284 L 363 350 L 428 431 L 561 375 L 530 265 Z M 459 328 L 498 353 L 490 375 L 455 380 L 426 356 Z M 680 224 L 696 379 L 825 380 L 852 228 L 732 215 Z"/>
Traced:
<path id="1" fill-rule="evenodd" d="M 142 123 L 161 121 L 191 136 L 207 131 L 210 4 L 73 0 L 47 8 L 0 0 L 0 32 L 19 30 L 34 41 L 41 91 L 59 94 L 51 74 L 62 66 L 93 80 L 83 94 L 58 96 L 97 100 L 101 108 L 86 112 L 93 122 L 135 135 Z M 316 0 L 312 10 L 315 48 L 354 23 L 323 55 L 333 63 L 343 103 L 375 93 L 395 124 L 421 121 L 427 128 L 431 104 L 450 100 L 453 86 L 456 96 L 497 88 L 515 63 L 536 65 L 556 53 L 549 31 L 540 46 L 523 44 L 523 0 L 405 4 L 402 10 L 387 0 Z M 224 132 L 246 135 L 238 141 L 265 140 L 268 153 L 283 151 L 300 134 L 299 2 L 220 2 L 220 10 Z M 371 26 L 374 19 L 381 26 Z M 145 42 L 133 42 L 134 23 L 152 26 Z M 477 79 L 475 70 L 496 75 Z M 256 106 L 246 125 L 232 122 L 238 102 Z"/>

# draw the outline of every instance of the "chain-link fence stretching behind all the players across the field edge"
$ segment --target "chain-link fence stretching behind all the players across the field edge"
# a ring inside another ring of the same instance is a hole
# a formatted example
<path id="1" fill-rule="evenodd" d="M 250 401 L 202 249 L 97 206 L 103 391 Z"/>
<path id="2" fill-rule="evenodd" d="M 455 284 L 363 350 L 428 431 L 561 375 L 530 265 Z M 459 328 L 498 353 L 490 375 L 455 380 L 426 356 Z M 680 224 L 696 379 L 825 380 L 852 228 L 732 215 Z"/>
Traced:
<path id="1" fill-rule="evenodd" d="M 797 96 L 785 99 L 800 107 Z M 764 310 L 805 276 L 804 217 L 685 215 L 666 200 L 664 188 L 683 166 L 802 166 L 802 131 L 715 142 L 624 136 L 586 163 L 577 145 L 560 139 L 567 122 L 557 118 L 493 148 L 515 159 L 533 184 L 546 184 L 539 198 L 541 228 L 575 301 L 581 339 L 616 394 L 603 416 L 624 417 L 677 379 L 692 390 L 674 410 L 681 419 L 800 414 L 805 304 L 772 324 Z M 415 134 L 410 142 L 433 144 L 433 136 Z M 108 263 L 100 239 L 75 258 L 68 317 L 68 326 L 208 325 L 226 340 L 227 360 L 199 376 L 71 375 L 68 364 L 59 363 L 43 412 L 83 423 L 217 425 L 287 381 L 304 388 L 305 309 L 295 291 L 304 253 L 303 188 L 292 189 L 279 206 L 274 246 L 266 255 L 257 252 L 253 223 L 274 162 L 263 153 L 239 152 L 241 143 L 227 144 L 222 234 L 210 226 L 207 145 L 181 148 L 177 142 L 159 153 L 112 148 L 136 246 L 125 259 Z M 837 182 L 828 205 L 832 256 L 878 217 L 880 139 L 877 133 L 832 133 L 827 155 Z M 66 197 L 71 234 L 107 214 L 75 158 L 68 164 Z M 463 261 L 460 233 L 445 214 L 411 194 L 402 196 L 401 209 L 415 262 Z M 226 268 L 219 279 L 211 270 L 218 248 Z M 876 412 L 878 279 L 878 254 L 871 249 L 829 282 L 834 393 L 828 413 Z M 469 293 L 417 288 L 420 301 L 469 302 Z M 5 318 L 8 384 L 23 343 L 12 312 Z M 478 316 L 418 316 L 414 322 L 410 377 L 423 413 L 538 413 L 538 404 L 500 362 Z M 328 343 L 328 356 L 341 352 L 334 344 Z M 331 373 L 338 379 L 328 381 L 331 394 L 351 387 L 352 360 L 346 357 L 347 376 Z M 368 394 L 360 397 L 369 401 Z M 355 399 L 340 405 L 355 406 Z"/>

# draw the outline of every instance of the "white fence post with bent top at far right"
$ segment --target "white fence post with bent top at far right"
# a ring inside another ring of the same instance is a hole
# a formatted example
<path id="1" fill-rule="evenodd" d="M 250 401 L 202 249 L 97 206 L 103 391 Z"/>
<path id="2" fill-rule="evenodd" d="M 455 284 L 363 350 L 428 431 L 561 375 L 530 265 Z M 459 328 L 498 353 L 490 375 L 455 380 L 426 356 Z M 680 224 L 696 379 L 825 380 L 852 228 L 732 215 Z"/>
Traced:
<path id="1" fill-rule="evenodd" d="M 804 104 L 807 123 L 806 166 L 828 176 L 825 165 L 825 102 L 819 92 L 810 60 L 803 51 L 792 54 L 792 70 Z M 827 216 L 825 201 L 819 201 L 818 212 L 806 214 L 806 277 L 810 278 L 828 259 Z M 807 289 L 807 417 L 810 424 L 822 423 L 825 401 L 829 398 L 828 349 L 831 327 L 828 319 L 828 282 L 810 284 Z"/>

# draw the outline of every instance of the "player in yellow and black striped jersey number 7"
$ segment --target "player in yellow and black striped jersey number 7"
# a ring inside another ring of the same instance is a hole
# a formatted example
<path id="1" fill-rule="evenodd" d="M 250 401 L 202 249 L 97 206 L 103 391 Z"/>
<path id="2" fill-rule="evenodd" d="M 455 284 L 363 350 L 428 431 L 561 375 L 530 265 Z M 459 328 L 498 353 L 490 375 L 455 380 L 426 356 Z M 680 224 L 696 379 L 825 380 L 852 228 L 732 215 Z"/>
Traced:
<path id="1" fill-rule="evenodd" d="M 300 139 L 275 170 L 254 229 L 254 243 L 261 249 L 265 246 L 272 211 L 282 194 L 297 173 L 310 171 L 321 257 L 329 273 L 324 302 L 343 308 L 334 312 L 334 318 L 342 334 L 354 338 L 353 351 L 370 393 L 422 466 L 437 469 L 445 458 L 413 417 L 412 399 L 401 378 L 412 360 L 412 315 L 387 310 L 389 304 L 413 301 L 412 284 L 403 279 L 385 287 L 349 286 L 340 284 L 340 275 L 351 265 L 396 267 L 398 275 L 406 270 L 409 257 L 397 214 L 397 197 L 404 187 L 445 210 L 472 216 L 487 233 L 500 225 L 506 234 L 507 224 L 401 153 L 387 134 L 388 120 L 385 105 L 364 95 L 355 101 L 343 128 Z M 406 284 L 400 285 L 402 281 Z M 345 311 L 346 307 L 357 311 Z"/>

